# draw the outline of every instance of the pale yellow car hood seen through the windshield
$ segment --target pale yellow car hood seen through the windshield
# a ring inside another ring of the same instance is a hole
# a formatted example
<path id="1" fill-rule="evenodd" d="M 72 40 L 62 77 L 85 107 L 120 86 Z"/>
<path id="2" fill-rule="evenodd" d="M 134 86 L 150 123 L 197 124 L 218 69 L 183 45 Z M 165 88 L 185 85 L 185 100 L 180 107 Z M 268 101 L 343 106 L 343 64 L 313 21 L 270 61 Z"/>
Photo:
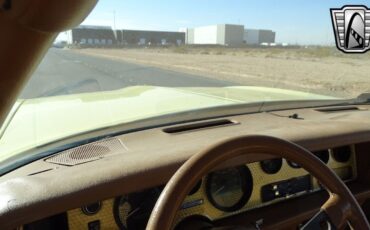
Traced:
<path id="1" fill-rule="evenodd" d="M 334 99 L 264 87 L 164 88 L 18 100 L 0 129 L 0 161 L 73 134 L 125 122 L 206 107 L 274 100 Z"/>

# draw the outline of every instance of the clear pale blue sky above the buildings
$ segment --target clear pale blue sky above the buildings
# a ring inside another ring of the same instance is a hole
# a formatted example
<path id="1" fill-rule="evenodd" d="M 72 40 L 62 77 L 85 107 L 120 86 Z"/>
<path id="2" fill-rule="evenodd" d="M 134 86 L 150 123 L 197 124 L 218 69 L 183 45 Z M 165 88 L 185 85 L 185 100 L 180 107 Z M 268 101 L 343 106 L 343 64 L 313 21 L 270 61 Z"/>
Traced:
<path id="1" fill-rule="evenodd" d="M 370 1 L 334 0 L 100 0 L 83 25 L 180 31 L 214 24 L 270 29 L 277 43 L 333 45 L 330 8 Z"/>

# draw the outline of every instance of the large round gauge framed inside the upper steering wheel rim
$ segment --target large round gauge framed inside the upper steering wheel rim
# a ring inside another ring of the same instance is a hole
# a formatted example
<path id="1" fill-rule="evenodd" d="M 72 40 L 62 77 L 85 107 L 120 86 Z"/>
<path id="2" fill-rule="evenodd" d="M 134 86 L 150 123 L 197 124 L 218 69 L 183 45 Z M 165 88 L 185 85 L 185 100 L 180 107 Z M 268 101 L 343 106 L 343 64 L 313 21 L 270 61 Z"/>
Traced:
<path id="1" fill-rule="evenodd" d="M 248 202 L 252 189 L 252 175 L 246 166 L 213 172 L 206 181 L 208 200 L 226 212 L 242 208 Z"/>

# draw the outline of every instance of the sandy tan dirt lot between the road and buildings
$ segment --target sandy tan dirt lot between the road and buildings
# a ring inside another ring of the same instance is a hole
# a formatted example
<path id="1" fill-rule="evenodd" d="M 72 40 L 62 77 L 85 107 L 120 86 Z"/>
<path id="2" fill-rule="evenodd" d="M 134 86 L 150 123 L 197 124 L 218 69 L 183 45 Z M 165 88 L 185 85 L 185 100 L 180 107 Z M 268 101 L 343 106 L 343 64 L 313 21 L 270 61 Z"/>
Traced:
<path id="1" fill-rule="evenodd" d="M 370 92 L 370 55 L 335 48 L 76 49 L 114 60 L 198 74 L 242 85 L 288 88 L 338 97 Z"/>

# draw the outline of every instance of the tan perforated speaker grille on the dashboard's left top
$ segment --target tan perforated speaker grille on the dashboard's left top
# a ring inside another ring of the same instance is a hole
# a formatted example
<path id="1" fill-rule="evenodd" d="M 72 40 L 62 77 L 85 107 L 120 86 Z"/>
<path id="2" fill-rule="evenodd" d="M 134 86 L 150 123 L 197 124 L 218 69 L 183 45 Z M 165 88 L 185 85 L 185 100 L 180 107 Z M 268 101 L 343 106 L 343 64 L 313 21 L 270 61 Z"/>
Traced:
<path id="1" fill-rule="evenodd" d="M 73 166 L 95 161 L 106 155 L 127 150 L 118 138 L 108 138 L 62 151 L 47 158 L 49 163 Z"/>

